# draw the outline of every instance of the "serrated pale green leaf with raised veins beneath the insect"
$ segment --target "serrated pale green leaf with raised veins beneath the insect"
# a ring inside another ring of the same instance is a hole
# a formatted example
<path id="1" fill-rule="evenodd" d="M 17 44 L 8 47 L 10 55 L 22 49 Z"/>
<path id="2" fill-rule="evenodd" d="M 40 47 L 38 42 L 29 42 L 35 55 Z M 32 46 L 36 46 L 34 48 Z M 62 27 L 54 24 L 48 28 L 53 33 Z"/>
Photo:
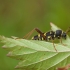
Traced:
<path id="1" fill-rule="evenodd" d="M 59 29 L 56 25 L 51 24 L 52 30 Z M 67 46 L 54 44 L 45 41 L 12 39 L 0 36 L 4 43 L 3 48 L 9 53 L 7 56 L 20 60 L 15 68 L 23 70 L 55 70 L 58 67 L 70 63 L 70 39 L 63 41 Z"/>

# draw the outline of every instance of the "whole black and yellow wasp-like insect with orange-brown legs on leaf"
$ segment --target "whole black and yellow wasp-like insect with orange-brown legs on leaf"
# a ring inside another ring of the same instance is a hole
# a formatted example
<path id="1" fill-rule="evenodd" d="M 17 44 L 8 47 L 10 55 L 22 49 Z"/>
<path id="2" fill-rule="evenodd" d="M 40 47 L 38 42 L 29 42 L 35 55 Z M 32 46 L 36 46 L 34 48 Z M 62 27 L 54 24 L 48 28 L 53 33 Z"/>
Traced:
<path id="1" fill-rule="evenodd" d="M 52 43 L 53 43 L 54 49 L 57 51 L 57 49 L 55 48 L 55 45 L 54 45 L 55 38 L 60 39 L 61 44 L 63 44 L 62 43 L 62 39 L 66 39 L 67 38 L 67 33 L 70 32 L 70 27 L 66 30 L 66 32 L 58 29 L 56 31 L 53 31 L 53 30 L 48 31 L 46 33 L 43 33 L 38 28 L 34 28 L 26 36 L 29 37 L 34 32 L 34 30 L 38 32 L 38 35 L 33 36 L 32 40 L 44 40 L 44 41 L 50 41 L 51 40 Z"/>

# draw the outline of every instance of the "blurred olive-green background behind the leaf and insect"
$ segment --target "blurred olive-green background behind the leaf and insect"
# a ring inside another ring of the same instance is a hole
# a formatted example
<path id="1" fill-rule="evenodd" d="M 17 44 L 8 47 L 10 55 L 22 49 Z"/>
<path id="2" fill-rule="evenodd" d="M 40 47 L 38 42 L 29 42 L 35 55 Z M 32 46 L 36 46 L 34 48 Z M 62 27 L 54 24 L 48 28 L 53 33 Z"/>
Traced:
<path id="1" fill-rule="evenodd" d="M 0 0 L 0 35 L 23 37 L 33 28 L 50 30 L 53 22 L 64 31 L 70 26 L 70 0 Z M 0 70 L 15 70 L 18 60 L 0 47 Z"/>

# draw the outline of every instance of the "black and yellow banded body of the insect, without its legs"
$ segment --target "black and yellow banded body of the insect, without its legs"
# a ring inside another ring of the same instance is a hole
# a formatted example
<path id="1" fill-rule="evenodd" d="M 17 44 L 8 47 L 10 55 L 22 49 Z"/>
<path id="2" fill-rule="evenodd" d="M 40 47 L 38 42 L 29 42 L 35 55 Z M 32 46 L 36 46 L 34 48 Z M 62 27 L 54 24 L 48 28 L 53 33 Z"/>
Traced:
<path id="1" fill-rule="evenodd" d="M 45 41 L 49 41 L 49 40 L 54 40 L 55 38 L 60 39 L 60 38 L 64 38 L 66 39 L 66 33 L 63 32 L 62 30 L 56 30 L 54 31 L 49 31 L 46 33 L 38 34 L 35 35 L 34 37 L 32 37 L 32 40 L 45 40 Z"/>

